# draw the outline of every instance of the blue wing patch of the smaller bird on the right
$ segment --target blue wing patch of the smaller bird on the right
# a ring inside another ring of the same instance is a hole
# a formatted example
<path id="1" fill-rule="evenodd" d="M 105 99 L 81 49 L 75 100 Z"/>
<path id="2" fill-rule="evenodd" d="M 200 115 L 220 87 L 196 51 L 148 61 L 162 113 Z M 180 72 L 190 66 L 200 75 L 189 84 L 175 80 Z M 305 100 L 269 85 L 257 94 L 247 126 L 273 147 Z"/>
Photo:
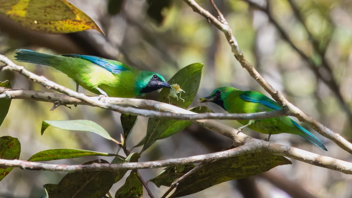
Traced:
<path id="1" fill-rule="evenodd" d="M 282 109 L 282 106 L 277 104 L 274 100 L 271 100 L 270 98 L 266 97 L 266 95 L 261 94 L 259 92 L 254 92 L 254 91 L 244 92 L 243 94 L 240 95 L 240 98 L 247 102 L 263 104 L 269 107 L 270 109 L 274 109 L 274 110 Z"/>

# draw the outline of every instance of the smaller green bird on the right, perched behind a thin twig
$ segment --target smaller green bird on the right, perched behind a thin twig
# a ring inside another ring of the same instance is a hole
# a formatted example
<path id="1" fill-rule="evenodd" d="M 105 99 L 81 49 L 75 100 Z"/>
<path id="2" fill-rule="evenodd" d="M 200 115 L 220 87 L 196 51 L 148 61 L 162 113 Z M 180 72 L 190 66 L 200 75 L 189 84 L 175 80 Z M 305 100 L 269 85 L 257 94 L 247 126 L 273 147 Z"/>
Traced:
<path id="1" fill-rule="evenodd" d="M 220 87 L 215 89 L 212 94 L 205 99 L 206 100 L 201 100 L 201 102 L 215 103 L 229 113 L 256 113 L 283 109 L 282 106 L 262 93 L 256 91 L 241 91 L 234 87 Z M 300 126 L 291 117 L 283 116 L 258 120 L 237 121 L 244 125 L 238 129 L 239 132 L 248 127 L 257 132 L 269 134 L 268 141 L 271 134 L 289 133 L 300 135 L 306 138 L 309 142 L 312 142 L 316 146 L 327 151 L 323 143 L 321 143 L 309 131 Z"/>

